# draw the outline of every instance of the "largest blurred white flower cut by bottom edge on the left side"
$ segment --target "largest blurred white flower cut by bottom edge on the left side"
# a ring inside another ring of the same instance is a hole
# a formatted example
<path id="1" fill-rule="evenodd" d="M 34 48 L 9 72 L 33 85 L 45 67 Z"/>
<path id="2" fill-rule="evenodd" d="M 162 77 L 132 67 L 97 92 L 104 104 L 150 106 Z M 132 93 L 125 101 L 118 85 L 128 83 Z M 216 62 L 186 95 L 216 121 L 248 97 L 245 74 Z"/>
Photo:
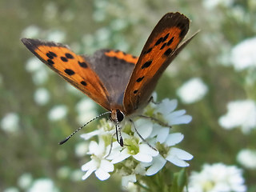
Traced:
<path id="1" fill-rule="evenodd" d="M 58 192 L 58 188 L 50 178 L 39 178 L 33 182 L 28 192 Z"/>

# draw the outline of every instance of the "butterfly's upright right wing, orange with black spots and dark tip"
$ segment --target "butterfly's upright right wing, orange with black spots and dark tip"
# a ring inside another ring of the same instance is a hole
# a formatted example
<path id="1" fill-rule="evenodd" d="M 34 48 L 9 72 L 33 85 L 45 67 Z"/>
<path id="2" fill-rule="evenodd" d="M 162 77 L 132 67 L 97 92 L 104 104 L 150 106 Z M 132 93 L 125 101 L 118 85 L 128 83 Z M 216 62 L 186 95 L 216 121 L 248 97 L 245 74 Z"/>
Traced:
<path id="1" fill-rule="evenodd" d="M 183 14 L 168 13 L 150 34 L 126 87 L 123 105 L 132 114 L 146 104 L 158 78 L 170 64 L 175 50 L 189 30 L 189 19 Z"/>

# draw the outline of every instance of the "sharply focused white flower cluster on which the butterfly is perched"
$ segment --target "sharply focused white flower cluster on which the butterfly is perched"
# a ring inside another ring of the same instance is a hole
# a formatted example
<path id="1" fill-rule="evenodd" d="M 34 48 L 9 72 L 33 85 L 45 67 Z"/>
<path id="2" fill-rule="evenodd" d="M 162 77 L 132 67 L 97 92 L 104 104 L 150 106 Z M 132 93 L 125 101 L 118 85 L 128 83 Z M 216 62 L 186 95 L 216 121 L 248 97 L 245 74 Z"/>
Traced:
<path id="1" fill-rule="evenodd" d="M 191 116 L 186 115 L 185 110 L 175 110 L 178 106 L 177 100 L 164 99 L 159 104 L 150 103 L 144 110 L 144 115 L 158 119 L 170 126 L 186 124 L 191 121 Z M 102 119 L 101 126 L 81 137 L 86 140 L 98 136 L 98 142 L 91 141 L 89 144 L 90 162 L 82 166 L 86 172 L 82 179 L 86 179 L 95 173 L 100 180 L 110 178 L 110 172 L 122 176 L 122 186 L 129 182 L 136 182 L 137 175 L 153 175 L 165 166 L 166 162 L 172 162 L 176 166 L 189 166 L 186 162 L 193 156 L 184 150 L 174 147 L 182 141 L 181 133 L 171 133 L 170 127 L 160 126 L 149 119 L 134 119 L 134 126 L 146 142 L 134 131 L 131 122 L 124 121 L 122 124 L 122 138 L 124 147 L 121 147 L 115 139 L 115 129 L 112 122 Z M 111 147 L 112 143 L 112 147 Z M 111 149 L 110 149 L 111 148 Z"/>

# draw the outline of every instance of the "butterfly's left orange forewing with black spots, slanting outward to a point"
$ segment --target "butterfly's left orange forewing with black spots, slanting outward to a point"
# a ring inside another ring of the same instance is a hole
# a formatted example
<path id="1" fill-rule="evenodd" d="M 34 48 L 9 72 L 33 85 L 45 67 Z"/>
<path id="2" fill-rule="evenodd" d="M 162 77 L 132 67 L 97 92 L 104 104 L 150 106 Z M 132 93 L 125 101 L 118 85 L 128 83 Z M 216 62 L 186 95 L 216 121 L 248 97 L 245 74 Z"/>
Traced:
<path id="1" fill-rule="evenodd" d="M 67 46 L 60 43 L 44 42 L 31 38 L 22 38 L 22 42 L 62 78 L 93 98 L 106 110 L 110 110 L 108 92 L 84 56 L 74 54 Z"/>

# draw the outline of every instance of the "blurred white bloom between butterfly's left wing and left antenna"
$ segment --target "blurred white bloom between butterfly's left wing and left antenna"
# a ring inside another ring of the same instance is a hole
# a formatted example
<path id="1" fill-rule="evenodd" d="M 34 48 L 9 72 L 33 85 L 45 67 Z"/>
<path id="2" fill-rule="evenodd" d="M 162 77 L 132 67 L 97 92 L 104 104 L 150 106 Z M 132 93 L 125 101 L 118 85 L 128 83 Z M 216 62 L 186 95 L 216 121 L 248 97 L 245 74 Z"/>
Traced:
<path id="1" fill-rule="evenodd" d="M 78 112 L 77 121 L 80 125 L 85 124 L 97 116 L 96 104 L 90 98 L 82 98 L 75 108 Z"/>

